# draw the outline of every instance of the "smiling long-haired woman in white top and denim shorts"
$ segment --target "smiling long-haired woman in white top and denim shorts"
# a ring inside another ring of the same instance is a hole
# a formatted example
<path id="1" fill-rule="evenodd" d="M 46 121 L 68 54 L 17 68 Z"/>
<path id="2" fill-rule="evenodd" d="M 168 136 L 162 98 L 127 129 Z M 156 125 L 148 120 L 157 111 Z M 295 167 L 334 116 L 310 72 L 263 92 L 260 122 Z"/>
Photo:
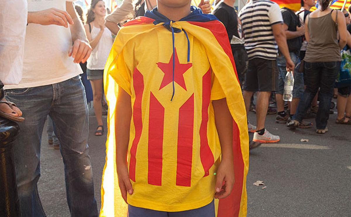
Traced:
<path id="1" fill-rule="evenodd" d="M 112 33 L 105 26 L 106 8 L 102 0 L 92 0 L 87 13 L 85 32 L 93 51 L 87 60 L 87 79 L 93 88 L 93 105 L 98 127 L 95 136 L 104 134 L 101 99 L 105 63 L 113 44 Z"/>

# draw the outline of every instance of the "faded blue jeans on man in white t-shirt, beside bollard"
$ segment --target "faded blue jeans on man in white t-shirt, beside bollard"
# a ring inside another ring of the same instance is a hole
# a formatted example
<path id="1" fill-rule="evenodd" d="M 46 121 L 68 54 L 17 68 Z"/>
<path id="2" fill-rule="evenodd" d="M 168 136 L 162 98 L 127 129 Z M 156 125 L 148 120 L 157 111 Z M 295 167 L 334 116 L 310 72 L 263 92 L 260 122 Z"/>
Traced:
<path id="1" fill-rule="evenodd" d="M 88 155 L 88 108 L 79 76 L 33 88 L 6 90 L 26 118 L 14 142 L 15 169 L 22 216 L 41 217 L 37 183 L 40 143 L 47 115 L 53 119 L 64 162 L 66 197 L 71 216 L 98 216 Z"/>

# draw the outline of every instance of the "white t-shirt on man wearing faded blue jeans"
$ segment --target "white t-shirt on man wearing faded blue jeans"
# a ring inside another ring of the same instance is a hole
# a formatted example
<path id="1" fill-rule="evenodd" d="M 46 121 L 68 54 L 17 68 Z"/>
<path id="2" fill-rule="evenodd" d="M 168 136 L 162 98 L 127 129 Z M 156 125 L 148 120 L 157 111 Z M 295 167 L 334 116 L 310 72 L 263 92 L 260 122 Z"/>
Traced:
<path id="1" fill-rule="evenodd" d="M 75 0 L 67 0 L 75 1 Z M 27 0 L 28 11 L 57 8 L 66 11 L 64 0 Z M 68 28 L 30 23 L 26 29 L 22 80 L 5 89 L 38 87 L 71 79 L 82 73 L 80 65 L 68 56 L 72 35 Z"/>

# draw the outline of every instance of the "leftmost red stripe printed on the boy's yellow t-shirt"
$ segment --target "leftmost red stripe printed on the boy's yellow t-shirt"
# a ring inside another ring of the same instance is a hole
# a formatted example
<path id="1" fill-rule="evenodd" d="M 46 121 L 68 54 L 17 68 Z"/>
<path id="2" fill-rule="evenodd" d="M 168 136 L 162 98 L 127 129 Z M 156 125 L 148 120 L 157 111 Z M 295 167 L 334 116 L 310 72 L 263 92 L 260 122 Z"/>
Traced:
<path id="1" fill-rule="evenodd" d="M 133 87 L 135 91 L 135 101 L 133 105 L 135 137 L 130 150 L 129 178 L 135 182 L 135 164 L 137 161 L 135 155 L 137 154 L 137 146 L 140 140 L 141 131 L 143 129 L 143 122 L 141 118 L 141 101 L 144 91 L 144 77 L 137 68 L 134 69 L 133 73 Z"/>

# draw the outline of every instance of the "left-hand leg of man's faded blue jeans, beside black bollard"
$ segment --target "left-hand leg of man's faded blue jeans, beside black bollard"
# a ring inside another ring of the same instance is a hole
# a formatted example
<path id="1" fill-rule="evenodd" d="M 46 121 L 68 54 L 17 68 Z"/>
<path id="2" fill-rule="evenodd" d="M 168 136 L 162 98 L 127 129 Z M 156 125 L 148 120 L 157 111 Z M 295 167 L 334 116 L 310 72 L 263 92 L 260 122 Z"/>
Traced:
<path id="1" fill-rule="evenodd" d="M 21 216 L 45 216 L 38 195 L 40 143 L 53 89 L 51 85 L 6 90 L 6 98 L 16 103 L 26 118 L 18 123 L 20 134 L 13 144 Z"/>

